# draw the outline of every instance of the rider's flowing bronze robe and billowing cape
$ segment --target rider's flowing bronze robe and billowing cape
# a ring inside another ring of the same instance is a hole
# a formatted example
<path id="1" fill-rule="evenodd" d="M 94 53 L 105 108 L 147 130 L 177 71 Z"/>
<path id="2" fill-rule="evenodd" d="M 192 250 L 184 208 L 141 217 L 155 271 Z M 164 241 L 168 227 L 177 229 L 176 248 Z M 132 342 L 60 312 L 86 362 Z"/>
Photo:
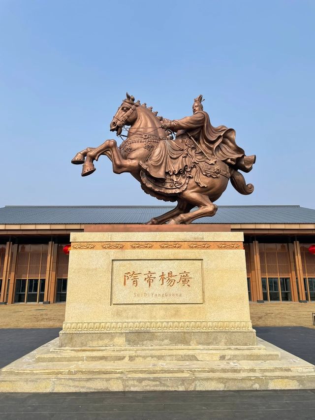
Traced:
<path id="1" fill-rule="evenodd" d="M 160 141 L 147 161 L 140 163 L 151 177 L 165 179 L 168 175 L 189 172 L 196 163 L 197 155 L 198 161 L 207 156 L 210 160 L 218 158 L 244 172 L 252 169 L 255 155 L 246 156 L 244 150 L 236 144 L 235 130 L 225 126 L 213 127 L 205 111 L 173 120 L 170 129 L 177 132 L 175 140 Z M 191 137 L 200 148 L 193 144 Z"/>

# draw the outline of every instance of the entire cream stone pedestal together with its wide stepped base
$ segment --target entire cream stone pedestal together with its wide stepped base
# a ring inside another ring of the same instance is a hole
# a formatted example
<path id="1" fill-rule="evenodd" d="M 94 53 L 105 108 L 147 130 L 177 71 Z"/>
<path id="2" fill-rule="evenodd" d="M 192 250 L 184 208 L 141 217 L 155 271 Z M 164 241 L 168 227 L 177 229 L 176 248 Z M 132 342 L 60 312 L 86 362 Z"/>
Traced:
<path id="1" fill-rule="evenodd" d="M 0 391 L 315 388 L 315 366 L 256 339 L 243 233 L 71 234 L 60 338 Z"/>

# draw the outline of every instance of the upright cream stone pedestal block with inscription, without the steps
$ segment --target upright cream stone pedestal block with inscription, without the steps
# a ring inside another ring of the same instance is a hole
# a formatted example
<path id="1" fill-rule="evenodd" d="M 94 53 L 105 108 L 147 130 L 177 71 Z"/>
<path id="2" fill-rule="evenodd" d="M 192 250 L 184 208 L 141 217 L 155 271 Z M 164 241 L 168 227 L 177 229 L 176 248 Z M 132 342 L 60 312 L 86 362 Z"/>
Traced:
<path id="1" fill-rule="evenodd" d="M 71 234 L 61 347 L 255 343 L 243 233 Z"/>

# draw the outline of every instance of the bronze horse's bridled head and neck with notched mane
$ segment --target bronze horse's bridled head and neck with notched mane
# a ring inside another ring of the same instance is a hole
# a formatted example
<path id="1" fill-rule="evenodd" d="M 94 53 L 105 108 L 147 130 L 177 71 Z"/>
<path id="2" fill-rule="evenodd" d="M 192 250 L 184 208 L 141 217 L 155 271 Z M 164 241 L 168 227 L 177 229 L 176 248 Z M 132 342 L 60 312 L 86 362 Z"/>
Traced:
<path id="1" fill-rule="evenodd" d="M 146 103 L 141 104 L 140 100 L 135 102 L 134 97 L 126 93 L 126 99 L 110 123 L 110 131 L 116 131 L 119 136 L 124 126 L 131 126 L 137 129 L 137 133 L 166 137 L 165 130 L 161 128 L 162 117 L 157 117 L 157 114 L 157 111 L 152 111 L 152 107 L 147 108 Z"/>

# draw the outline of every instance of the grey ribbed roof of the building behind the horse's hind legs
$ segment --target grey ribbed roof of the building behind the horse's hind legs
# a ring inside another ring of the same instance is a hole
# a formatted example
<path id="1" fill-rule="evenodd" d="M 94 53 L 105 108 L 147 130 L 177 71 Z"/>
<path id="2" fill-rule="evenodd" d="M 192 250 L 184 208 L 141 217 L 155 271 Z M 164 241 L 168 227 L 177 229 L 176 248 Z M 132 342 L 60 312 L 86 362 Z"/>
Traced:
<path id="1" fill-rule="evenodd" d="M 5 206 L 2 224 L 145 223 L 174 206 Z M 195 223 L 315 223 L 315 210 L 300 206 L 219 206 Z"/>

